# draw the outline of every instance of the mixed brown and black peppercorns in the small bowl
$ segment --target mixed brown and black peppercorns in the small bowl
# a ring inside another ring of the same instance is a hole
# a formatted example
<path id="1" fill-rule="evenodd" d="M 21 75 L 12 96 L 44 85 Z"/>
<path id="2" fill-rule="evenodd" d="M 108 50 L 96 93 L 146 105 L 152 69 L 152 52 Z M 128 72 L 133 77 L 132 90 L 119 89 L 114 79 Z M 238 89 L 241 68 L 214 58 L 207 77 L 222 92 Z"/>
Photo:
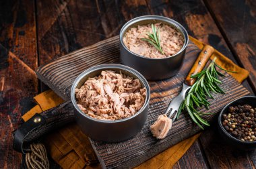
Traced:
<path id="1" fill-rule="evenodd" d="M 222 125 L 236 139 L 256 141 L 256 108 L 251 105 L 230 106 L 222 115 Z"/>

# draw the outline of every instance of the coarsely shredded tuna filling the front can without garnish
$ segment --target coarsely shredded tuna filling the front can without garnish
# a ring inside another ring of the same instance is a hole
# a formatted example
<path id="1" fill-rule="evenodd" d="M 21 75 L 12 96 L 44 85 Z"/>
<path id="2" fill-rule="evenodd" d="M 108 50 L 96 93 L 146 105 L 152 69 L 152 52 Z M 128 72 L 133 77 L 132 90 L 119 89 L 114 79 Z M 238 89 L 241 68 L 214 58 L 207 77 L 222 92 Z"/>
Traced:
<path id="1" fill-rule="evenodd" d="M 79 109 L 90 117 L 117 120 L 130 117 L 143 107 L 146 89 L 139 79 L 105 70 L 75 89 L 75 98 Z"/>

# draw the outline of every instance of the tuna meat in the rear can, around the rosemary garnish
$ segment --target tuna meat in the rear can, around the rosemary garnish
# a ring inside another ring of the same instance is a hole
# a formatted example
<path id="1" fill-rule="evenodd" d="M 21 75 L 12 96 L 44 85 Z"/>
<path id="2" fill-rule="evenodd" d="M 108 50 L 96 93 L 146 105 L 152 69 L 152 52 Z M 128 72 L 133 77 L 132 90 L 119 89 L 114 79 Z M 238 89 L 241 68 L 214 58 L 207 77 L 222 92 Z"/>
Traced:
<path id="1" fill-rule="evenodd" d="M 183 48 L 183 34 L 170 25 L 163 23 L 156 23 L 154 25 L 156 25 L 156 29 L 160 29 L 160 46 L 164 54 L 161 54 L 161 52 L 148 42 L 141 40 L 141 38 L 148 38 L 147 34 L 149 32 L 152 34 L 151 24 L 138 25 L 128 30 L 123 37 L 125 46 L 131 52 L 148 58 L 166 58 L 177 54 Z"/>

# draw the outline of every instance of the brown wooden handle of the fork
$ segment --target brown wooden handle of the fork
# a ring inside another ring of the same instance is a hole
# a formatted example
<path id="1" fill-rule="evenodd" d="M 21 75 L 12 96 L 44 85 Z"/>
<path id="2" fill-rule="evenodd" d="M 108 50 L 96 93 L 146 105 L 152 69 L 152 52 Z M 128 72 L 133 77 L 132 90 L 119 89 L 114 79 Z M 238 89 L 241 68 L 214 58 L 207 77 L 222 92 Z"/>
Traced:
<path id="1" fill-rule="evenodd" d="M 196 78 L 191 78 L 190 76 L 192 74 L 197 74 L 203 70 L 205 64 L 210 59 L 212 54 L 214 53 L 214 48 L 209 45 L 205 45 L 203 49 L 201 50 L 199 56 L 197 57 L 197 60 L 195 60 L 195 63 L 193 64 L 193 67 L 191 68 L 189 74 L 187 74 L 187 78 L 185 79 L 185 84 L 192 86 L 196 80 Z"/>

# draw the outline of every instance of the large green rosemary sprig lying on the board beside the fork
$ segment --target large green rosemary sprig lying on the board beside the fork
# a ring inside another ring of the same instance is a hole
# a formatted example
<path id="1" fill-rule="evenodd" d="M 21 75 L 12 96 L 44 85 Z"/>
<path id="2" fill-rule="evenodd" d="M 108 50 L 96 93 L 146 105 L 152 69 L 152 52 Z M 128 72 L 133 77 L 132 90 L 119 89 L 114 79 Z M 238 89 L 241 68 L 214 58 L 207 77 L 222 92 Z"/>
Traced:
<path id="1" fill-rule="evenodd" d="M 201 107 L 203 105 L 206 109 L 209 109 L 210 103 L 207 101 L 207 98 L 214 99 L 214 97 L 211 95 L 212 92 L 225 94 L 223 89 L 219 86 L 222 81 L 218 79 L 218 76 L 225 75 L 219 72 L 216 67 L 226 72 L 234 72 L 222 68 L 216 64 L 215 60 L 216 58 L 212 60 L 210 65 L 205 70 L 191 76 L 191 78 L 197 78 L 197 80 L 192 85 L 191 89 L 189 89 L 189 93 L 185 97 L 183 103 L 181 103 L 181 106 L 177 112 L 177 118 L 179 118 L 181 111 L 186 110 L 189 113 L 191 119 L 201 129 L 203 129 L 203 125 L 210 126 L 210 124 L 201 116 L 210 115 L 212 113 L 200 113 L 195 109 L 195 107 Z"/>

